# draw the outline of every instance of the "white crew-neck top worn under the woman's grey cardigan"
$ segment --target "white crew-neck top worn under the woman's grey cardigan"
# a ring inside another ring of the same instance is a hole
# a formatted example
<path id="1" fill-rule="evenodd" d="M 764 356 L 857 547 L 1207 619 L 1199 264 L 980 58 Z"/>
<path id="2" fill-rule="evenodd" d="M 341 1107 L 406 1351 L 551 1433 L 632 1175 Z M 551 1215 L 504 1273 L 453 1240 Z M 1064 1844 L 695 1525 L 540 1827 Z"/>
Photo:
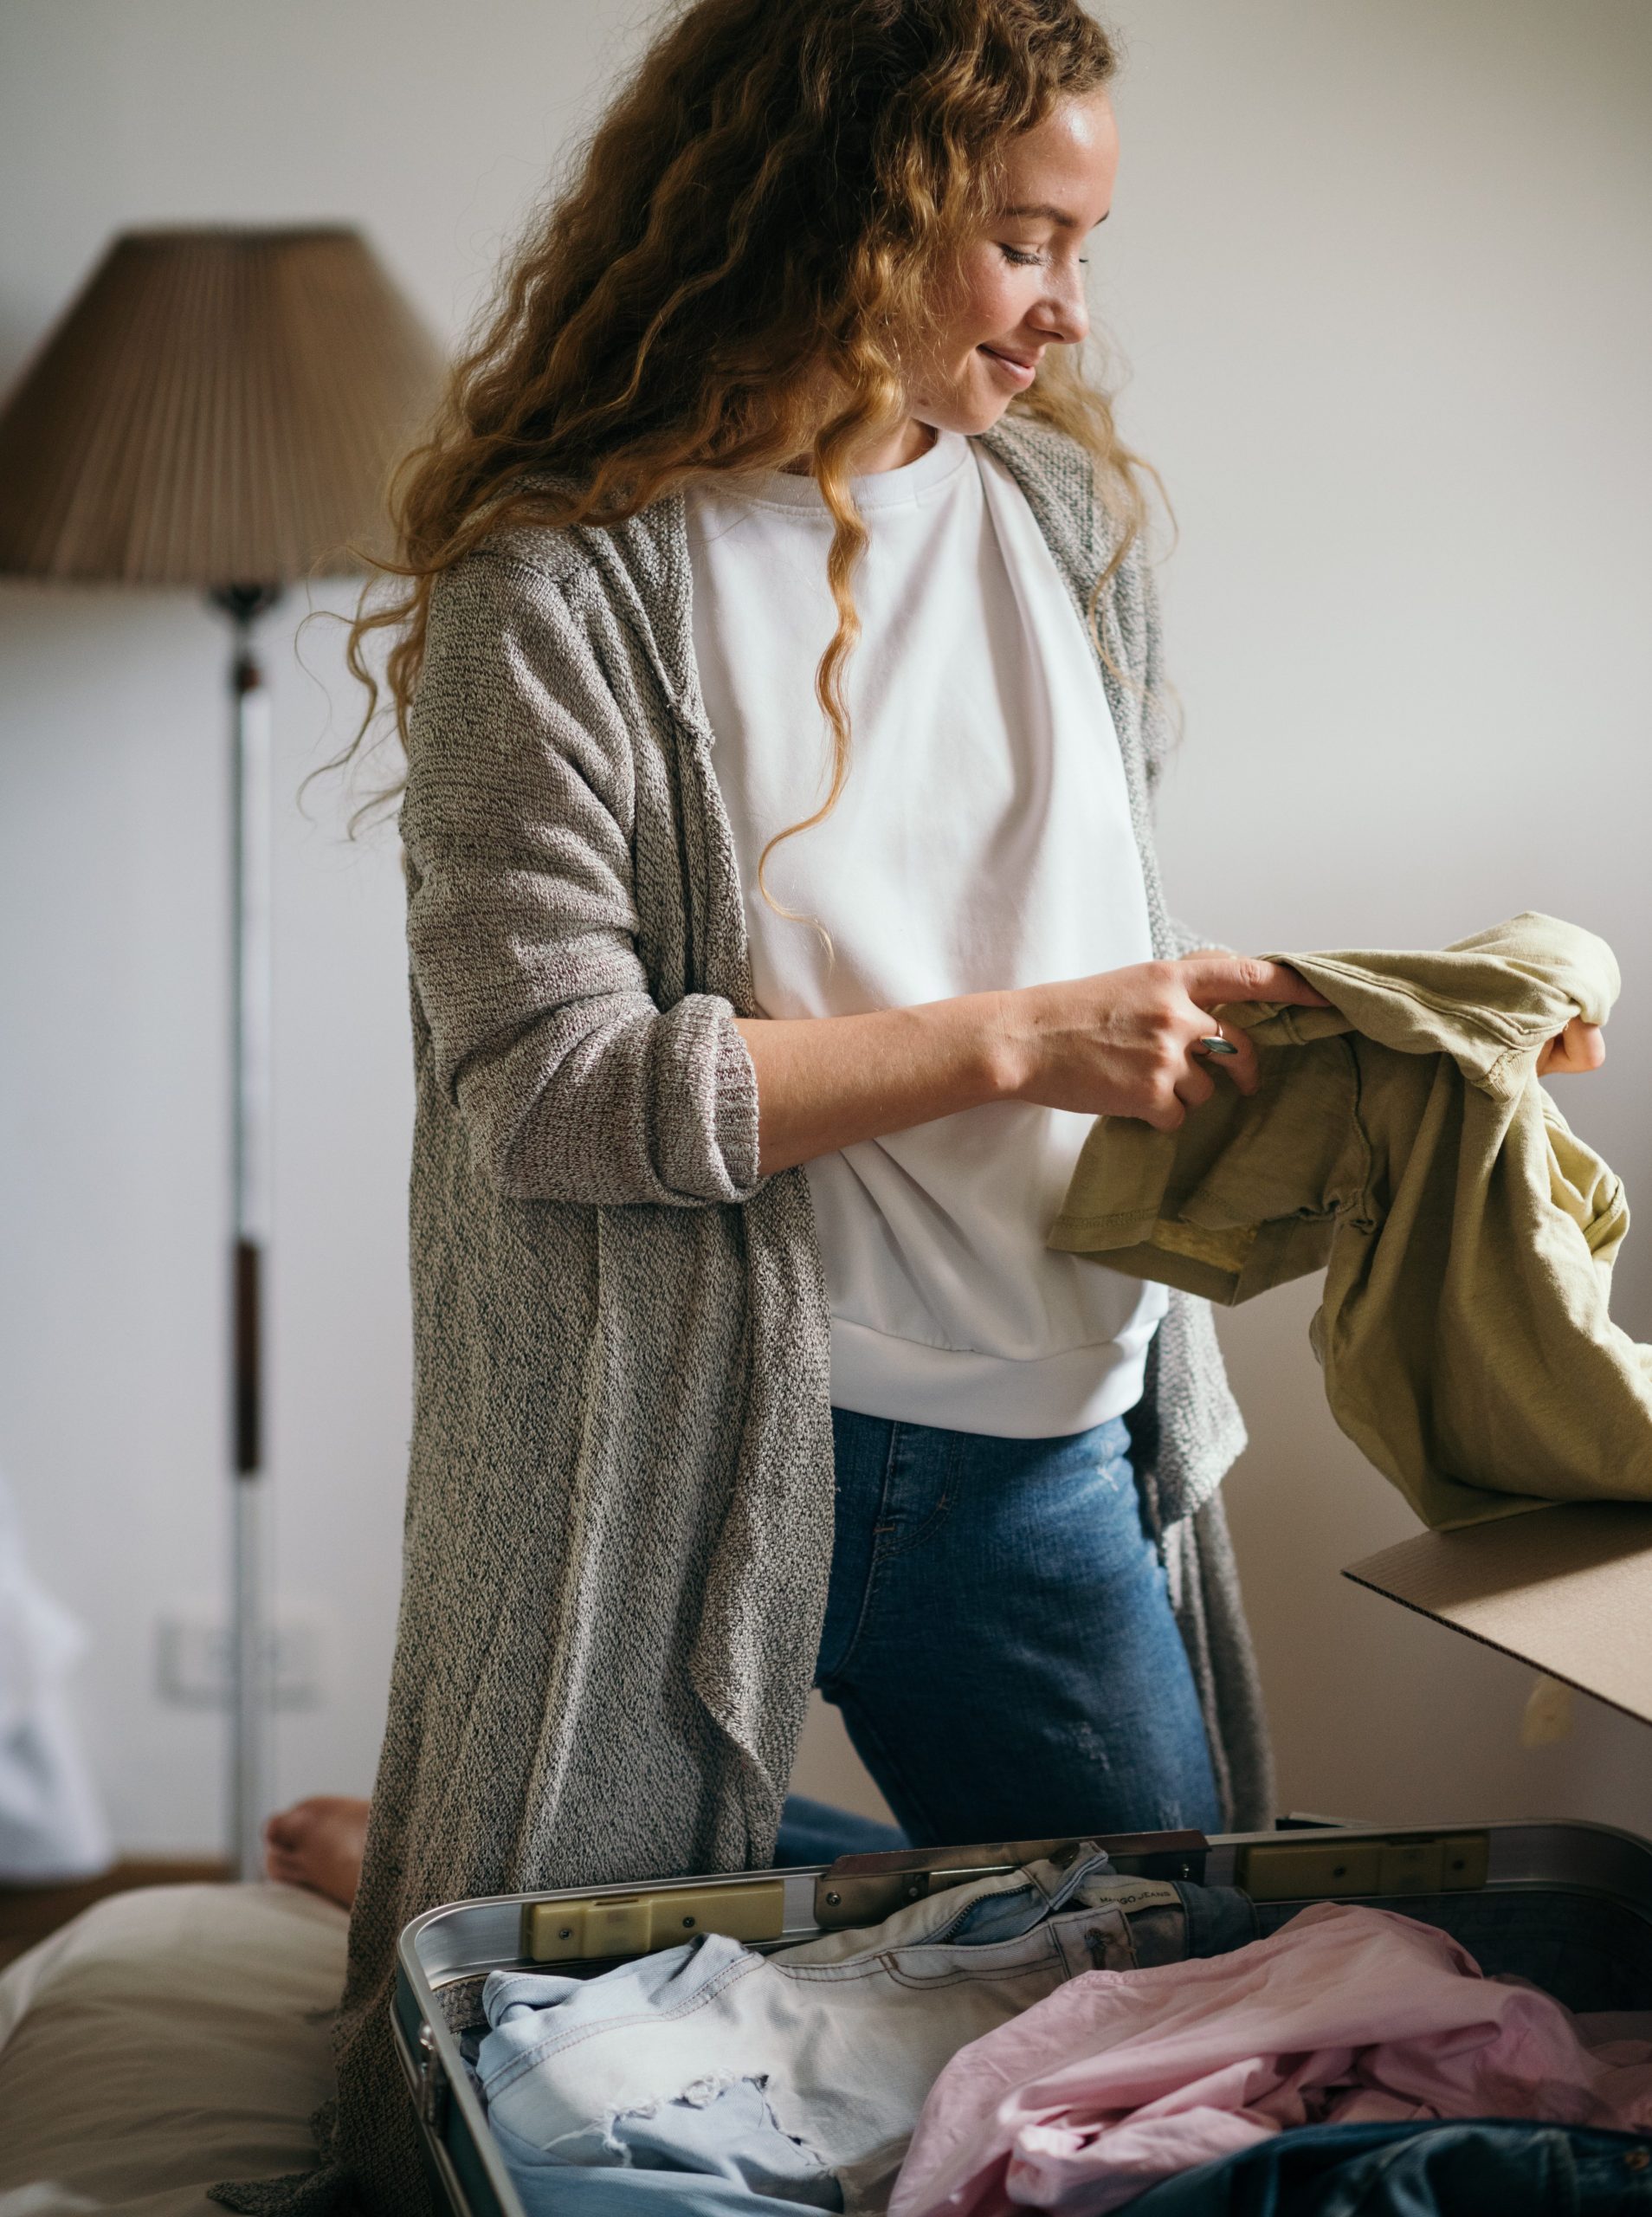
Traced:
<path id="1" fill-rule="evenodd" d="M 696 483 L 694 652 L 765 1015 L 852 1015 L 1151 958 L 1124 767 L 1095 654 L 1027 501 L 940 432 L 856 481 L 849 783 L 814 674 L 836 627 L 809 477 Z M 1164 1293 L 1044 1233 L 1091 1117 L 993 1102 L 807 1164 L 838 1408 L 1005 1439 L 1133 1408 Z"/>

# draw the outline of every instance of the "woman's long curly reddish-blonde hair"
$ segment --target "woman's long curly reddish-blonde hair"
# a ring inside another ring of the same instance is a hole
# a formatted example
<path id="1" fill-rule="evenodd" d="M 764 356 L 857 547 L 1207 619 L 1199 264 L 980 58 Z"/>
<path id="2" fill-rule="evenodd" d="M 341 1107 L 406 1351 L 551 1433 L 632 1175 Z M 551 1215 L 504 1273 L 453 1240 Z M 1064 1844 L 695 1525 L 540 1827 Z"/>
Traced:
<path id="1" fill-rule="evenodd" d="M 406 745 L 432 585 L 492 532 L 616 523 L 707 472 L 803 463 L 834 521 L 838 623 L 816 672 L 832 776 L 763 862 L 820 823 L 849 769 L 856 452 L 903 417 L 905 364 L 996 208 L 1007 142 L 1113 69 L 1080 0 L 685 7 L 528 231 L 397 474 L 397 552 L 377 568 L 399 583 L 377 579 L 350 632 L 368 687 L 355 745 L 386 692 Z M 1144 521 L 1142 466 L 1073 348 L 1051 348 L 1013 406 L 1095 461 L 1115 519 L 1100 594 Z"/>

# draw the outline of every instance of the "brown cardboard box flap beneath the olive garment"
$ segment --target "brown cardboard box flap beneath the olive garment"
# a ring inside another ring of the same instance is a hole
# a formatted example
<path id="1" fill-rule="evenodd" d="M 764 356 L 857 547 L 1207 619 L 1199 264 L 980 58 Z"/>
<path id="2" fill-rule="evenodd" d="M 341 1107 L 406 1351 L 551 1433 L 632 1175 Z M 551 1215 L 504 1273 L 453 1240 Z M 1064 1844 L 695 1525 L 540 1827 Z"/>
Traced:
<path id="1" fill-rule="evenodd" d="M 1570 1501 L 1419 1532 L 1344 1579 L 1652 1723 L 1652 1505 Z"/>

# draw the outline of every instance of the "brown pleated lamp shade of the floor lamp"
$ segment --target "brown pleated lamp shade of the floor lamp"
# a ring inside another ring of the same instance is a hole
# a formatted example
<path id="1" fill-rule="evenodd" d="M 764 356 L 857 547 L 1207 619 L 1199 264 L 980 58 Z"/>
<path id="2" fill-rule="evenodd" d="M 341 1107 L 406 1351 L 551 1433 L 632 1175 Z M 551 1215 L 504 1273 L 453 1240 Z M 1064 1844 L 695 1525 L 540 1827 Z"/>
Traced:
<path id="1" fill-rule="evenodd" d="M 355 231 L 131 231 L 0 412 L 0 572 L 224 588 L 359 570 L 439 384 Z"/>

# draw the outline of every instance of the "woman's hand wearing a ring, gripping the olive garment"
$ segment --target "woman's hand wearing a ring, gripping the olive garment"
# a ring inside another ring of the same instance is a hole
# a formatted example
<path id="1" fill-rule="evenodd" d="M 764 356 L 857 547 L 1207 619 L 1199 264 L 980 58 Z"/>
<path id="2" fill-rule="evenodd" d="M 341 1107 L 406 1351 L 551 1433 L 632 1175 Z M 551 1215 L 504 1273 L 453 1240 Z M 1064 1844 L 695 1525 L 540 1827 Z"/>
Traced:
<path id="1" fill-rule="evenodd" d="M 1233 1000 L 1326 1007 L 1284 962 L 1255 956 L 1197 953 L 1022 987 L 1002 995 L 1005 1051 L 1016 1073 L 1007 1091 L 1042 1108 L 1131 1115 L 1175 1131 L 1215 1091 L 1213 1069 L 1240 1093 L 1255 1093 L 1248 1033 L 1235 1026 L 1228 1042 L 1237 1053 L 1220 1062 L 1197 1046 L 1217 1031 L 1211 1011 Z"/>

